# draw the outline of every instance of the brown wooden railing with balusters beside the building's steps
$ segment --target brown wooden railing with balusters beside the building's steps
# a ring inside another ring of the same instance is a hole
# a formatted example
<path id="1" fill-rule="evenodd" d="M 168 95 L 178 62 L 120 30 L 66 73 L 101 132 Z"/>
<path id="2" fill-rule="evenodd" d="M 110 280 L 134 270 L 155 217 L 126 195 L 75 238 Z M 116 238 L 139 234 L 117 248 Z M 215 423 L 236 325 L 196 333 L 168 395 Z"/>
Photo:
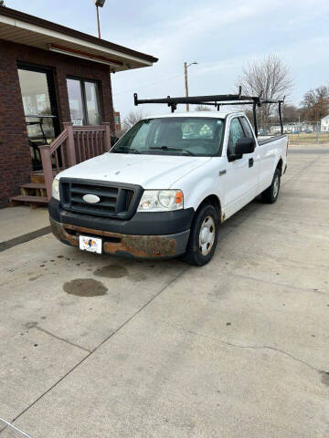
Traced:
<path id="1" fill-rule="evenodd" d="M 64 130 L 50 144 L 39 146 L 48 199 L 54 174 L 111 149 L 110 123 L 98 126 L 73 126 L 63 123 Z"/>

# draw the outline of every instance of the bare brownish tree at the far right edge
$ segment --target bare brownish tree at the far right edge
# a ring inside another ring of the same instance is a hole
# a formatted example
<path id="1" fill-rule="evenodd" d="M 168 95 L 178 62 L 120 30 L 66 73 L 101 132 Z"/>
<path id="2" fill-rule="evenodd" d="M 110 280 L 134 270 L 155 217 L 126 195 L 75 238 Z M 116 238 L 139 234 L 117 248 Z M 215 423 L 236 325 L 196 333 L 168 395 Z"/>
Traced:
<path id="1" fill-rule="evenodd" d="M 304 120 L 318 121 L 329 113 L 329 87 L 310 89 L 304 94 L 302 102 Z"/>

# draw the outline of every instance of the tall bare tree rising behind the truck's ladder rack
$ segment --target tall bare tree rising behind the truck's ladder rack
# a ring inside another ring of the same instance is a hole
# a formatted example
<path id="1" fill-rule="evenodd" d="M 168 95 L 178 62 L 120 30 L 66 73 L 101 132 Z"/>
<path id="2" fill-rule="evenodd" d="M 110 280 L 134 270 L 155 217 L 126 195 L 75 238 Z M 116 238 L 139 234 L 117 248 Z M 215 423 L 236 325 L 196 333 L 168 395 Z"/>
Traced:
<path id="1" fill-rule="evenodd" d="M 281 99 L 289 96 L 292 89 L 290 69 L 276 55 L 269 55 L 260 61 L 250 63 L 243 68 L 237 85 L 242 86 L 242 94 L 260 96 L 268 99 Z M 271 118 L 273 105 L 260 107 L 260 126 L 268 123 Z"/>

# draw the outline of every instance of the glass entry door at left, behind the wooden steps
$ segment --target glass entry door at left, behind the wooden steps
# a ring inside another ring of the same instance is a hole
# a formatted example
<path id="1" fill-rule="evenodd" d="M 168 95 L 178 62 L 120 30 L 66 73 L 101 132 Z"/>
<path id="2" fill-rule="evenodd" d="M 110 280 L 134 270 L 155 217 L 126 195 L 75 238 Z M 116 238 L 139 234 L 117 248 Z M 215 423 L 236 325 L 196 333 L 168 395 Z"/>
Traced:
<path id="1" fill-rule="evenodd" d="M 38 146 L 49 144 L 59 134 L 58 109 L 52 71 L 18 66 L 32 168 L 42 169 Z"/>

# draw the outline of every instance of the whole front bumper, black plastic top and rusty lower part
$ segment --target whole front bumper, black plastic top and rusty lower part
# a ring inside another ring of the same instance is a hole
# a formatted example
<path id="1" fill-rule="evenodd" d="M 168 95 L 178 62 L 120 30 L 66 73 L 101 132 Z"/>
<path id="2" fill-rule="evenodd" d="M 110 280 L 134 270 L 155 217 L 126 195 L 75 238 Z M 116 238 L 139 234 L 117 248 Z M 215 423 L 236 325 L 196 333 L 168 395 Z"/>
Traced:
<path id="1" fill-rule="evenodd" d="M 130 220 L 70 212 L 51 198 L 53 234 L 64 244 L 79 247 L 79 236 L 102 238 L 102 252 L 137 258 L 171 258 L 186 252 L 194 209 L 166 213 L 136 213 Z"/>

